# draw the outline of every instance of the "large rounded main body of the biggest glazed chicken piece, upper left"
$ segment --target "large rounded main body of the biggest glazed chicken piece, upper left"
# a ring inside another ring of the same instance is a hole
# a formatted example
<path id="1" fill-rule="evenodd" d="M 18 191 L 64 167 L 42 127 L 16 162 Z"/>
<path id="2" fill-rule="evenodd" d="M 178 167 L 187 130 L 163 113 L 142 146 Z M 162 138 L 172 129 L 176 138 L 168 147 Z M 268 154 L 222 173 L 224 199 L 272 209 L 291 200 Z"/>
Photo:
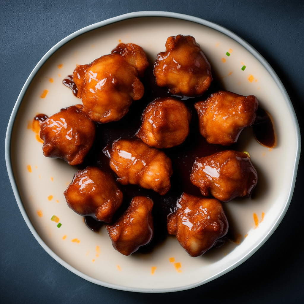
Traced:
<path id="1" fill-rule="evenodd" d="M 89 64 L 82 90 L 83 111 L 98 123 L 121 119 L 144 87 L 134 67 L 119 54 L 102 56 Z"/>

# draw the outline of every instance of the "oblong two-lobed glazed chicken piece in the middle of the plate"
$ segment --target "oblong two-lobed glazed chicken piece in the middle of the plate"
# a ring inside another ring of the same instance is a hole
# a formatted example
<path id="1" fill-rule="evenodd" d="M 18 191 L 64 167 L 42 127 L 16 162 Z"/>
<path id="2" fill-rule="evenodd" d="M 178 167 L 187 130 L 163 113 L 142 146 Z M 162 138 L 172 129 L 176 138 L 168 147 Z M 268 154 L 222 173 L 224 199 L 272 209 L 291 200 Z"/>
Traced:
<path id="1" fill-rule="evenodd" d="M 123 185 L 139 185 L 160 195 L 171 187 L 171 159 L 140 139 L 119 139 L 112 144 L 110 167 Z"/>

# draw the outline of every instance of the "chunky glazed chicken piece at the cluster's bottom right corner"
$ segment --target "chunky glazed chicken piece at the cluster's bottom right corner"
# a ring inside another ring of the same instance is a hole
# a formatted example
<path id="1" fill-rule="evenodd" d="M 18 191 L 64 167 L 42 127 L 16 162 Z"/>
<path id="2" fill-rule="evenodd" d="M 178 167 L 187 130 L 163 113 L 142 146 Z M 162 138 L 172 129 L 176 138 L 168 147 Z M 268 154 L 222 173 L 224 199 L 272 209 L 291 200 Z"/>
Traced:
<path id="1" fill-rule="evenodd" d="M 175 235 L 191 257 L 204 254 L 228 232 L 222 204 L 183 193 L 173 213 L 167 218 L 168 233 Z"/>

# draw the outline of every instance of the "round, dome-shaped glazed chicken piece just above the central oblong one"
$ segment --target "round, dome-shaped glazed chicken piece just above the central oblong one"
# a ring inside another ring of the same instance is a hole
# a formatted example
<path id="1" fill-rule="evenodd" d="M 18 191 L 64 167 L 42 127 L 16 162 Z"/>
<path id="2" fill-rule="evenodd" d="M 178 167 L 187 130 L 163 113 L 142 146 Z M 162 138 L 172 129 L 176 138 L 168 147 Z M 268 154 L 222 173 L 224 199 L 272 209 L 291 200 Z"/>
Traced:
<path id="1" fill-rule="evenodd" d="M 183 102 L 157 98 L 143 112 L 136 136 L 150 147 L 171 148 L 184 142 L 190 121 L 191 112 Z"/>

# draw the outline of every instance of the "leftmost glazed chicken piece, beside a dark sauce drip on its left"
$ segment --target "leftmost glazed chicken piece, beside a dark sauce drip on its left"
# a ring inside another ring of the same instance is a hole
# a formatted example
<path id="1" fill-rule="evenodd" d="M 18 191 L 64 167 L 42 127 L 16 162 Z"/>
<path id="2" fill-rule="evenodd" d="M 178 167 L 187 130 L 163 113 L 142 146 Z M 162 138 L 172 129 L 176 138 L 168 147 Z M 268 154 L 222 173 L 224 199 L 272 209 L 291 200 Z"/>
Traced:
<path id="1" fill-rule="evenodd" d="M 81 111 L 82 105 L 61 109 L 40 123 L 46 157 L 62 158 L 70 165 L 81 164 L 95 139 L 95 124 Z"/>

